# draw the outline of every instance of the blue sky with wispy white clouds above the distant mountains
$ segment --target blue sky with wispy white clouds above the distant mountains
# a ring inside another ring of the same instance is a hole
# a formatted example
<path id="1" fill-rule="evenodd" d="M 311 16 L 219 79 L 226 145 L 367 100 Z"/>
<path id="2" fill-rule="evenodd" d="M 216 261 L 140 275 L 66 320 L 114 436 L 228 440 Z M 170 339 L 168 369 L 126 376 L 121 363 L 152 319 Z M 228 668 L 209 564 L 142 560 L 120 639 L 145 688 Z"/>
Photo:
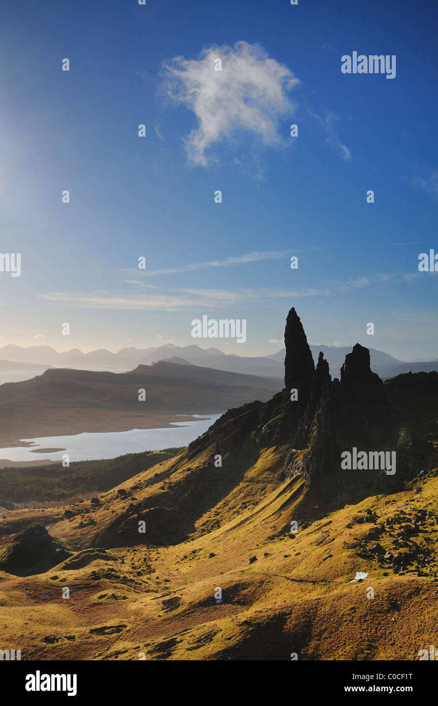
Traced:
<path id="1" fill-rule="evenodd" d="M 438 357 L 438 275 L 418 272 L 437 8 L 298 2 L 2 9 L 1 251 L 23 264 L 0 276 L 0 345 L 218 345 L 190 335 L 206 314 L 247 320 L 225 352 L 265 355 L 295 306 L 312 343 Z M 341 73 L 353 51 L 395 54 L 396 78 Z"/>

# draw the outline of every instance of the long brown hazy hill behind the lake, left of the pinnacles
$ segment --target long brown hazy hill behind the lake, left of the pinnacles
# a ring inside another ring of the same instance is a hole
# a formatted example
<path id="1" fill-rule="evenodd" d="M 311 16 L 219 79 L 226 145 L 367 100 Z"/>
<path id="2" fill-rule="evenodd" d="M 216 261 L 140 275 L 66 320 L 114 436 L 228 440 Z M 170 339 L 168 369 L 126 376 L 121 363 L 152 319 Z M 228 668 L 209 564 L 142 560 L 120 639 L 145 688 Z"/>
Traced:
<path id="1" fill-rule="evenodd" d="M 20 438 L 169 426 L 181 421 L 176 414 L 224 412 L 255 398 L 267 400 L 279 387 L 273 378 L 164 361 L 128 373 L 50 369 L 1 385 L 0 445 L 23 445 Z"/>

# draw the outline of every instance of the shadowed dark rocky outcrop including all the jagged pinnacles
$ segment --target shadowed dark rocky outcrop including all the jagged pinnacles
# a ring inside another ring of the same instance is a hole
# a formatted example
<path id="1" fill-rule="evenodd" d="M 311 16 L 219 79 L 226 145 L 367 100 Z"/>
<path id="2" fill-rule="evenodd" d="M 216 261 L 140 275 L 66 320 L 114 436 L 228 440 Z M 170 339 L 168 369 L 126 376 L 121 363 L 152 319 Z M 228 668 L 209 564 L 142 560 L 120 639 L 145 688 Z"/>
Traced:
<path id="1" fill-rule="evenodd" d="M 245 448 L 247 456 L 256 456 L 260 448 L 285 447 L 278 478 L 287 479 L 300 473 L 313 479 L 335 467 L 340 468 L 341 452 L 353 446 L 360 450 L 394 450 L 403 426 L 400 409 L 405 416 L 413 405 L 415 417 L 421 419 L 426 399 L 431 419 L 437 418 L 434 413 L 438 413 L 438 373 L 416 373 L 419 381 L 421 376 L 428 376 L 423 384 L 424 395 L 419 395 L 421 399 L 417 400 L 414 380 L 399 376 L 400 381 L 394 378 L 384 385 L 370 369 L 369 350 L 357 343 L 346 356 L 341 379 L 332 381 L 329 364 L 322 353 L 315 368 L 295 309 L 288 313 L 284 341 L 286 388 L 269 402 L 253 402 L 229 410 L 207 433 L 189 445 L 190 458 L 207 449 L 209 453 L 215 449 L 214 453 L 238 455 Z M 415 380 L 416 376 L 413 376 Z M 298 400 L 291 399 L 293 388 L 298 390 Z M 391 395 L 396 402 L 393 403 Z M 436 429 L 434 425 L 431 430 Z M 438 466 L 432 441 L 419 445 L 418 440 L 410 438 L 409 448 L 397 450 L 396 477 L 382 473 L 381 481 L 395 487 L 396 478 L 412 478 L 422 467 L 430 468 L 434 462 Z M 429 450 L 433 458 L 426 453 Z"/>

